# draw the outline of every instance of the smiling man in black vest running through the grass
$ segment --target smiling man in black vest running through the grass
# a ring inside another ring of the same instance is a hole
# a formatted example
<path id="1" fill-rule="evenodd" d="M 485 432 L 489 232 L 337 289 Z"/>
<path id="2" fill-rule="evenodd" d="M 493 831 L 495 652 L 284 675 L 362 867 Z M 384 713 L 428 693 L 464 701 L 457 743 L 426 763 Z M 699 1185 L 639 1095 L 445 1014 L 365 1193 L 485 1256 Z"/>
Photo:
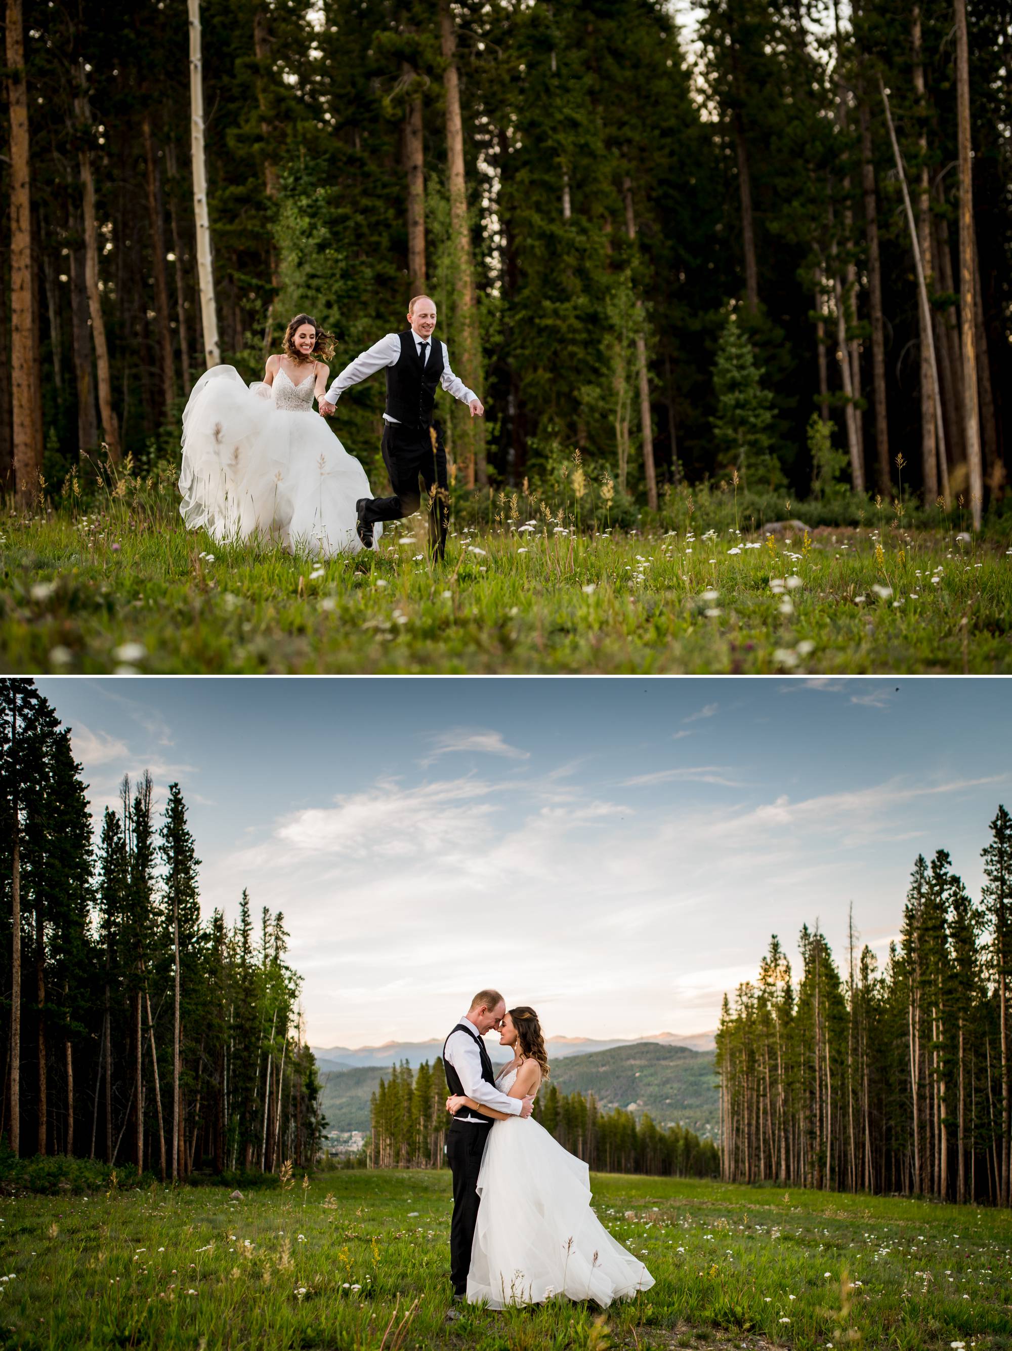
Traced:
<path id="1" fill-rule="evenodd" d="M 355 503 L 358 538 L 365 549 L 373 547 L 377 520 L 400 520 L 418 511 L 420 480 L 432 497 L 430 549 L 436 558 L 446 551 L 446 451 L 432 426 L 436 385 L 467 404 L 472 417 L 481 417 L 485 409 L 478 396 L 450 370 L 446 343 L 432 340 L 435 320 L 431 296 L 415 296 L 408 305 L 411 327 L 405 332 L 386 334 L 368 351 L 359 353 L 345 366 L 320 403 L 320 412 L 330 417 L 346 389 L 386 367 L 382 458 L 393 497 L 361 497 Z"/>

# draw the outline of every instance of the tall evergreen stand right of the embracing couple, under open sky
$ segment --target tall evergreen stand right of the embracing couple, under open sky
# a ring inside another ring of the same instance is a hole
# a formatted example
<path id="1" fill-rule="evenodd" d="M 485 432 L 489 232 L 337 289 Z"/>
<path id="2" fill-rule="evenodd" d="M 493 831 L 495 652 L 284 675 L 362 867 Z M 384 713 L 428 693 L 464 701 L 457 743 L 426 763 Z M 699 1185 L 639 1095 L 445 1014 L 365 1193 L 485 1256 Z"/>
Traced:
<path id="1" fill-rule="evenodd" d="M 919 857 L 882 971 L 853 934 L 842 973 L 803 928 L 774 936 L 717 1031 L 723 1177 L 1008 1205 L 1012 817 L 990 823 L 977 900 Z"/>

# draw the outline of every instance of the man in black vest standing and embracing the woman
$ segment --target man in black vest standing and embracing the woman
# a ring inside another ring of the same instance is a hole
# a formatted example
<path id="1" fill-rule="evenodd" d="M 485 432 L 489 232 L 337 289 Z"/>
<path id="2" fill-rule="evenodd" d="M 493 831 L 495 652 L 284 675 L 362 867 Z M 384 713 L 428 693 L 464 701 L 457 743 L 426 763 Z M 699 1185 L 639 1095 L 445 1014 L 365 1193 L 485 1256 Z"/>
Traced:
<path id="1" fill-rule="evenodd" d="M 482 1038 L 503 1027 L 505 1000 L 499 990 L 478 990 L 457 1027 L 443 1043 L 443 1070 L 450 1094 L 474 1098 L 511 1116 L 530 1116 L 534 1098 L 511 1098 L 496 1088 L 492 1061 Z M 454 1300 L 467 1297 L 467 1270 L 478 1219 L 478 1170 L 493 1117 L 462 1106 L 446 1136 L 446 1156 L 453 1174 L 450 1221 L 450 1281 Z"/>

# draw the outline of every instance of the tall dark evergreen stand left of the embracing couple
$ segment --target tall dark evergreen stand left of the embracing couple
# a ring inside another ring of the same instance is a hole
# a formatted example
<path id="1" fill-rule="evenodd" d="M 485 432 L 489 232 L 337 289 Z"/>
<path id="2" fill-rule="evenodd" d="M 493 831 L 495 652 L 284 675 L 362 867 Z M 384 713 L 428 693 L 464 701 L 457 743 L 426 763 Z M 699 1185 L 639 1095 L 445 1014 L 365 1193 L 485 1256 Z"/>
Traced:
<path id="1" fill-rule="evenodd" d="M 178 784 L 158 815 L 123 780 L 96 840 L 70 730 L 31 681 L 0 682 L 0 1131 L 15 1155 L 64 1154 L 185 1179 L 312 1163 L 319 1082 L 285 961 L 259 932 L 200 913 Z"/>

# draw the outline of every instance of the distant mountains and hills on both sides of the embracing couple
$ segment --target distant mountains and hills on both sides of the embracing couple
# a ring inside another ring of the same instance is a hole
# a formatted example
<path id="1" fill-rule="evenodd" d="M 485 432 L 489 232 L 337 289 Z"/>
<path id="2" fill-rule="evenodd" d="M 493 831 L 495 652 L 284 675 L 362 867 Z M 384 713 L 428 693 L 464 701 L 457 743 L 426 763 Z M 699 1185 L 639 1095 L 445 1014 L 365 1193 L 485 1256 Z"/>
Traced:
<path id="1" fill-rule="evenodd" d="M 658 1125 L 681 1124 L 704 1139 L 719 1135 L 720 1100 L 713 1052 L 694 1051 L 686 1046 L 651 1039 L 649 1042 L 620 1042 L 605 1044 L 604 1050 L 581 1054 L 580 1051 L 553 1050 L 554 1042 L 572 1046 L 566 1038 L 554 1038 L 547 1043 L 551 1061 L 551 1078 L 559 1093 L 593 1093 L 605 1111 L 620 1106 L 630 1109 L 636 1117 L 649 1112 Z M 407 1043 L 393 1043 L 401 1051 Z M 586 1044 L 586 1043 L 584 1043 Z M 594 1044 L 594 1043 L 590 1043 Z M 420 1061 L 432 1061 L 442 1044 L 439 1042 L 418 1043 L 426 1048 Z M 331 1048 L 328 1055 L 334 1054 Z M 363 1047 L 361 1050 L 382 1051 L 384 1047 Z M 489 1046 L 496 1059 L 499 1047 Z M 322 1070 L 322 1106 L 327 1124 L 332 1131 L 362 1131 L 370 1128 L 369 1100 L 380 1086 L 380 1079 L 389 1071 L 395 1059 L 408 1059 L 405 1054 L 389 1055 L 380 1065 L 339 1067 L 339 1062 L 324 1059 L 315 1052 Z M 361 1054 L 361 1052 L 359 1052 Z M 501 1056 L 499 1056 L 501 1059 Z"/>

